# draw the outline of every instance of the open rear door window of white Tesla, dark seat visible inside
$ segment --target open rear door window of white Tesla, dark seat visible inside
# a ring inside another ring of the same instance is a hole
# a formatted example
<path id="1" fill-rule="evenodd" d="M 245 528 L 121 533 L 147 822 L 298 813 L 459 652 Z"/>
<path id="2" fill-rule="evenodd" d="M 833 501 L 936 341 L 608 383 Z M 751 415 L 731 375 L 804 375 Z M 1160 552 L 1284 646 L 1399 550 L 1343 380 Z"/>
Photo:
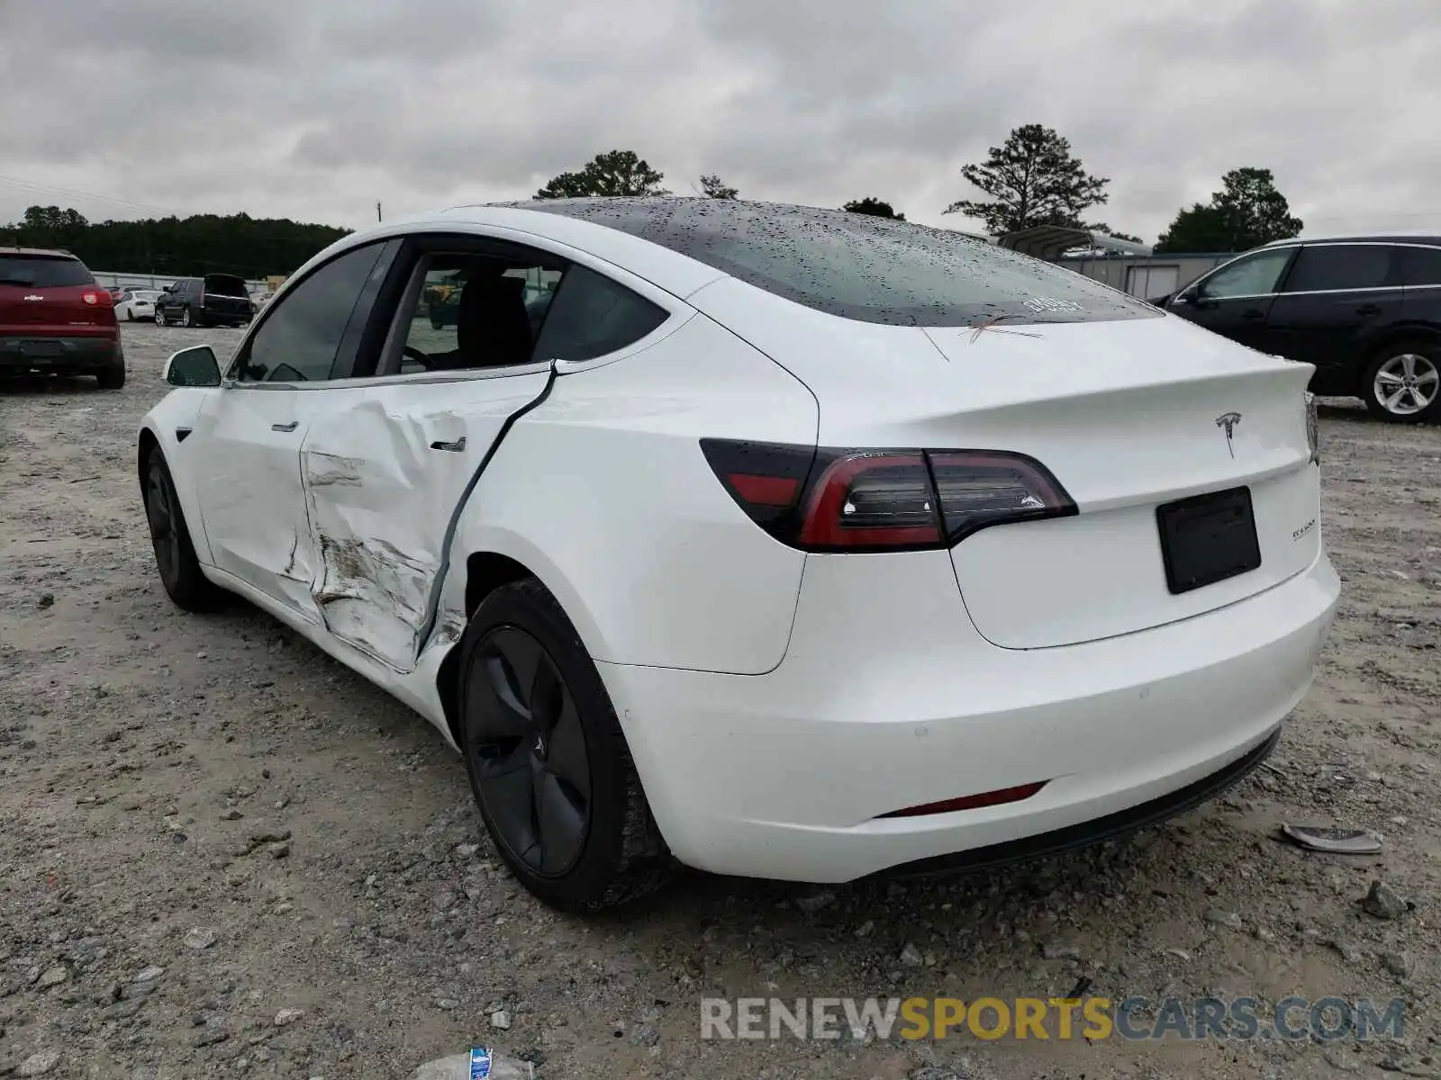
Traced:
<path id="1" fill-rule="evenodd" d="M 401 310 L 401 357 L 392 372 L 461 372 L 527 364 L 556 295 L 559 261 L 533 255 L 437 252 Z"/>

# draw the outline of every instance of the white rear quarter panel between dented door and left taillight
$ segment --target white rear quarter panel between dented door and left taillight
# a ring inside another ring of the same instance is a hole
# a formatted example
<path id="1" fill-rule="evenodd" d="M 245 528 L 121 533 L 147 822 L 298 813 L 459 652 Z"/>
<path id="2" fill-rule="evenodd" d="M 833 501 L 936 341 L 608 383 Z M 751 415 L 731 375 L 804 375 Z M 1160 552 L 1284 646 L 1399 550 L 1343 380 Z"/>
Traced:
<path id="1" fill-rule="evenodd" d="M 761 674 L 785 655 L 806 556 L 735 504 L 703 436 L 814 445 L 816 397 L 705 317 L 656 346 L 556 379 L 467 504 L 441 619 L 464 612 L 465 559 L 527 566 L 589 654 Z"/>

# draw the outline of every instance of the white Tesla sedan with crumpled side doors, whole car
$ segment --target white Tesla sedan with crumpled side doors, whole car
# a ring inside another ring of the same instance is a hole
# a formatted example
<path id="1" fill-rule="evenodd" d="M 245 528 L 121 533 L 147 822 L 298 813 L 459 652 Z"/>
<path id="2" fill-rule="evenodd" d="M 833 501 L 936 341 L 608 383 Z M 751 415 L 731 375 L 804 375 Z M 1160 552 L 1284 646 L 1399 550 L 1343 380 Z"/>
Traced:
<path id="1" fill-rule="evenodd" d="M 166 372 L 170 596 L 425 716 L 562 907 L 1159 821 L 1271 750 L 1337 603 L 1308 364 L 916 225 L 457 207 Z"/>

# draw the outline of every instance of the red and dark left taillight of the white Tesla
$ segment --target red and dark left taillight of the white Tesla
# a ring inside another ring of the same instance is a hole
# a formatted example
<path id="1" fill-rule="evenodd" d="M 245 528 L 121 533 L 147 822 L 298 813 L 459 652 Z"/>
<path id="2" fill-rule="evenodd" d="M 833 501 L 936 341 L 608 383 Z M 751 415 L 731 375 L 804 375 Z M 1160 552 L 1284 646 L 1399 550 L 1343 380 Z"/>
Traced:
<path id="1" fill-rule="evenodd" d="M 1045 465 L 1023 454 L 729 439 L 700 448 L 752 521 L 806 552 L 951 547 L 989 526 L 1076 513 Z"/>

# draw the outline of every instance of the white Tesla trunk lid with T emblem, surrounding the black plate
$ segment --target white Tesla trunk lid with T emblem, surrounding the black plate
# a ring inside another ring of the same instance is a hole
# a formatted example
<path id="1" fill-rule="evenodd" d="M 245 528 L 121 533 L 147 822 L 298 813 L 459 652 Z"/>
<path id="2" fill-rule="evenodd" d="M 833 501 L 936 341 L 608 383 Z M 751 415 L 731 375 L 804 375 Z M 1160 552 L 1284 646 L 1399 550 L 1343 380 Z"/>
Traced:
<path id="1" fill-rule="evenodd" d="M 1190 618 L 1303 572 L 1320 550 L 1308 364 L 1169 315 L 922 330 L 837 318 L 735 279 L 689 302 L 811 387 L 823 445 L 1010 451 L 1050 469 L 1078 514 L 951 549 L 965 608 L 996 645 Z M 1172 592 L 1157 510 L 1233 488 L 1249 491 L 1259 566 Z"/>

